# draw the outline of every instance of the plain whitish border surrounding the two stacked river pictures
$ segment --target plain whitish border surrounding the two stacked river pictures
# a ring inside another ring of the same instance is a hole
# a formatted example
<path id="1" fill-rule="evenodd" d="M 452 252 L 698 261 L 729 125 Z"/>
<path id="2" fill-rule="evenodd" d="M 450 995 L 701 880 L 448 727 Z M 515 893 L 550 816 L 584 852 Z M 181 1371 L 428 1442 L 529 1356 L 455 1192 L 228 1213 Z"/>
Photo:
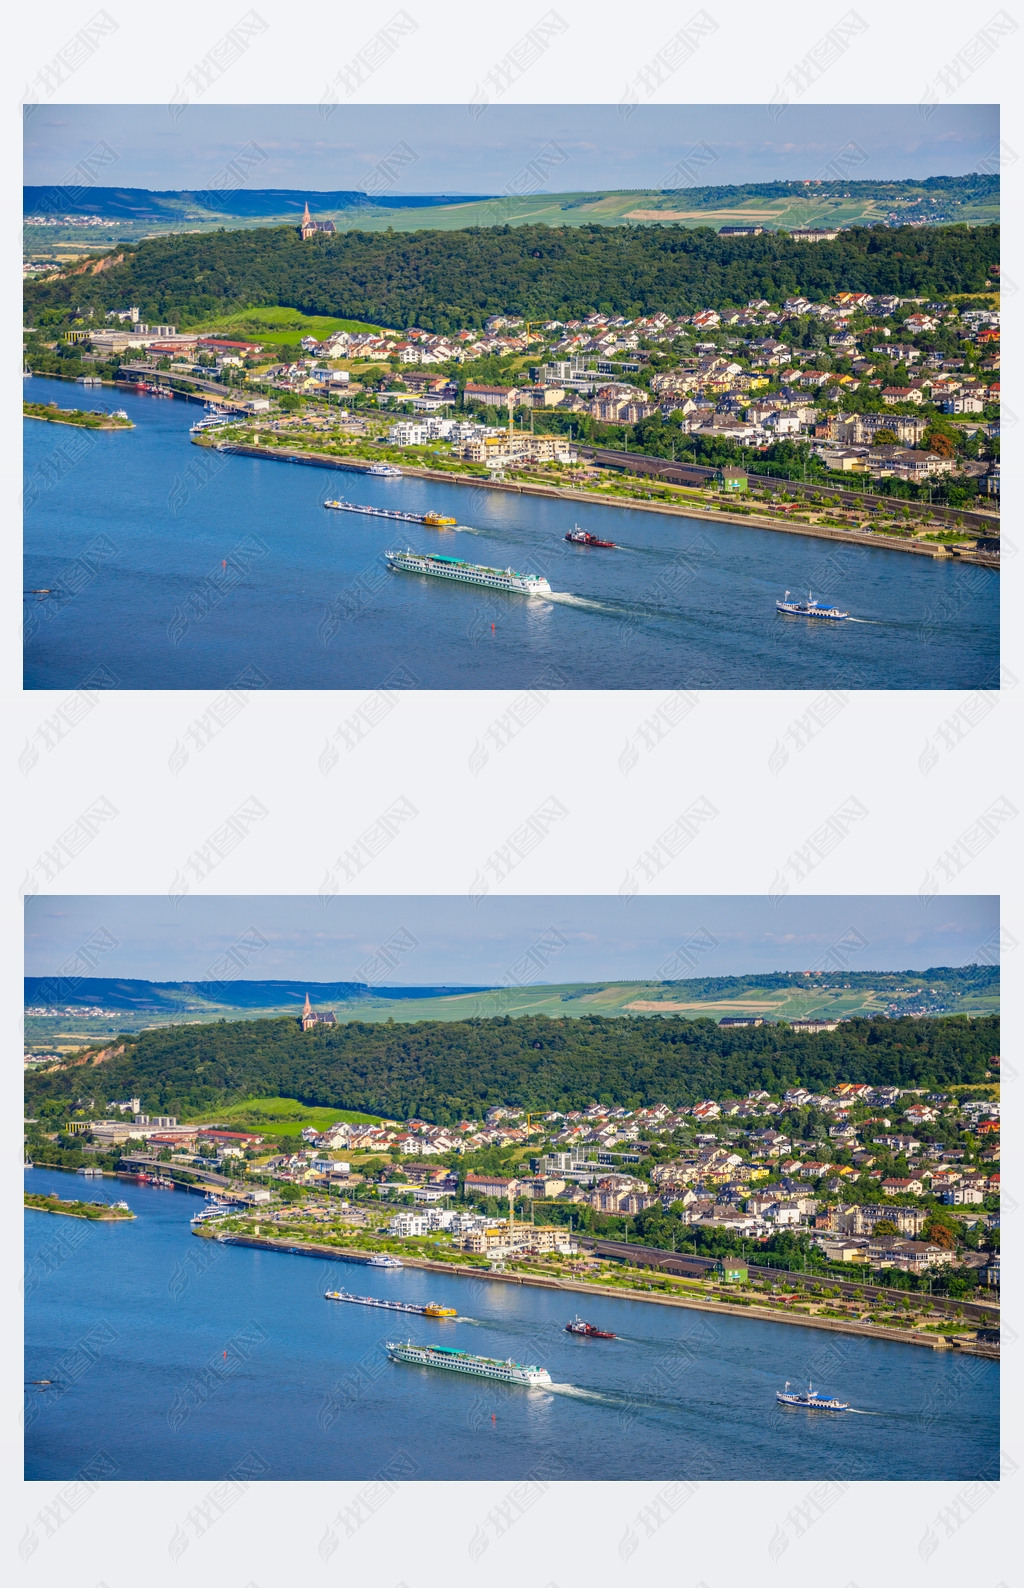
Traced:
<path id="1" fill-rule="evenodd" d="M 141 8 L 111 0 L 117 32 L 75 73 L 60 98 L 124 102 L 127 97 L 167 102 L 187 68 L 229 30 L 244 5 L 195 5 Z M 237 103 L 316 100 L 324 65 L 341 65 L 397 10 L 394 3 L 368 5 L 354 16 L 333 6 L 289 5 L 259 0 L 257 11 L 271 32 L 224 75 L 218 98 Z M 408 10 L 419 29 L 397 51 L 365 91 L 378 102 L 468 102 L 475 84 L 535 21 L 533 11 L 510 13 L 465 3 L 438 5 L 411 0 Z M 546 6 L 535 8 L 537 16 Z M 691 8 L 665 3 L 627 11 L 606 0 L 557 0 L 556 10 L 570 30 L 508 92 L 518 102 L 618 103 L 635 73 L 687 21 Z M 692 11 L 699 6 L 694 5 Z M 656 98 L 756 103 L 770 98 L 789 68 L 805 59 L 816 41 L 840 19 L 818 5 L 708 6 L 719 32 L 695 62 L 681 68 Z M 868 24 L 857 48 L 837 56 L 806 91 L 814 102 L 916 102 L 949 64 L 960 60 L 964 86 L 954 100 L 1003 102 L 1003 138 L 1024 149 L 1019 127 L 1021 32 L 986 52 L 978 30 L 989 10 L 970 13 L 940 0 L 921 8 L 857 3 Z M 16 102 L 24 84 L 81 29 L 92 14 L 89 5 L 59 0 L 48 8 L 19 13 L 21 40 L 6 52 L 8 127 L 11 157 L 5 165 L 11 218 L 11 264 L 17 195 Z M 1005 17 L 994 8 L 992 16 Z M 972 43 L 973 41 L 973 43 Z M 967 67 L 970 65 L 970 71 Z M 472 135 L 467 118 L 467 135 Z M 1019 168 L 1019 167 L 1018 167 Z M 1005 259 L 1008 275 L 1019 275 L 1018 252 L 1019 179 L 1007 172 Z M 11 270 L 11 295 L 14 272 Z M 1007 300 L 1005 335 L 1016 349 L 1018 306 Z M 13 324 L 14 321 L 11 321 Z M 1019 357 L 1011 359 L 1019 368 Z M 1016 378 L 1007 392 L 1008 410 L 1021 410 Z M 6 445 L 13 448 L 17 426 L 11 399 Z M 17 459 L 13 449 L 5 481 L 17 522 Z M 1016 470 L 1010 470 L 1011 500 Z M 6 556 L 14 564 L 16 534 Z M 8 591 L 21 589 L 11 567 Z M 1003 573 L 1016 591 L 1016 569 Z M 1016 603 L 1007 599 L 1005 610 Z M 1019 624 L 1008 622 L 1003 659 L 1024 676 Z M 6 626 L 5 680 L 11 702 L 8 746 L 14 754 L 38 726 L 46 700 L 21 697 L 17 619 Z M 51 697 L 52 699 L 52 697 Z M 502 885 L 516 891 L 616 891 L 635 856 L 649 846 L 697 796 L 706 796 L 721 815 L 679 851 L 651 886 L 659 891 L 768 891 L 778 867 L 818 831 L 848 796 L 857 796 L 870 816 L 854 824 L 800 886 L 813 891 L 908 891 L 935 872 L 937 858 L 972 829 L 981 811 L 1000 796 L 1019 796 L 1010 746 L 1019 729 L 1019 696 L 1007 692 L 997 711 L 956 751 L 945 754 L 927 777 L 918 757 L 929 735 L 962 705 L 959 696 L 860 696 L 819 735 L 795 765 L 778 777 L 767 759 L 789 723 L 806 707 L 806 696 L 732 694 L 710 696 L 656 751 L 645 754 L 627 778 L 618 756 L 637 724 L 649 715 L 651 699 L 630 694 L 556 697 L 533 727 L 514 740 L 494 767 L 473 777 L 468 756 L 487 724 L 506 708 L 510 696 L 419 696 L 402 702 L 375 732 L 371 742 L 346 757 L 329 778 L 318 772 L 325 734 L 351 715 L 359 697 L 276 696 L 254 702 L 222 746 L 211 745 L 175 778 L 167 757 L 208 696 L 110 696 L 70 740 L 21 780 L 14 772 L 16 826 L 11 829 L 5 924 L 11 951 L 5 958 L 8 1053 L 17 1051 L 21 988 L 19 912 L 14 892 L 40 854 L 98 796 L 106 796 L 119 815 L 105 824 L 94 843 L 64 870 L 59 891 L 162 891 L 195 845 L 221 823 L 238 800 L 251 794 L 268 808 L 206 886 L 225 892 L 316 891 L 333 858 L 359 835 L 398 794 L 421 811 L 352 886 L 360 891 L 462 891 L 475 870 L 506 843 L 508 835 L 554 794 L 567 818 L 530 850 Z M 351 765 L 348 765 L 351 762 Z M 492 773 L 492 775 L 491 775 Z M 1014 799 L 1021 805 L 1021 799 Z M 416 831 L 418 842 L 405 842 Z M 1019 897 L 1019 824 L 1003 826 L 997 842 L 978 850 L 965 869 L 948 881 L 972 892 L 1003 892 L 1005 921 L 1024 935 Z M 419 842 L 427 835 L 429 843 Z M 1010 978 L 1008 978 L 1010 980 Z M 1018 1024 L 1016 986 L 1007 988 L 1011 1029 Z M 1013 1054 L 1011 1054 L 1013 1056 Z M 13 1067 L 11 1067 L 13 1069 Z M 11 1081 L 11 1089 L 16 1083 Z M 1007 1088 L 1011 1123 L 1016 1088 Z M 16 1100 L 13 1118 L 16 1118 Z M 13 1134 L 13 1132 L 11 1132 Z M 10 1186 L 16 1148 L 6 1154 Z M 6 1178 L 6 1177 L 5 1177 Z M 1018 1215 L 1019 1216 L 1019 1215 Z M 1013 1218 L 1011 1218 L 1013 1224 Z M 1011 1286 L 1010 1294 L 1016 1293 Z M 11 1309 L 14 1312 L 14 1309 Z M 8 1323 L 8 1328 L 10 1323 Z M 14 1342 L 11 1342 L 13 1345 Z M 1019 1383 L 1014 1358 L 1007 1350 L 1008 1382 Z M 8 1361 L 14 1351 L 8 1351 Z M 13 1374 L 6 1391 L 16 1393 Z M 14 1426 L 14 1410 L 8 1426 Z M 1007 1453 L 1024 1459 L 1016 1426 L 1007 1421 Z M 43 1494 L 57 1485 L 19 1480 L 17 1442 L 10 1443 L 13 1520 L 8 1544 L 16 1548 L 22 1518 L 30 1520 Z M 995 1585 L 1010 1575 L 1003 1544 L 1008 1540 L 1011 1505 L 1021 1475 L 1008 1478 L 997 1494 L 967 1494 L 964 1485 L 854 1488 L 835 1502 L 803 1534 L 787 1521 L 792 1507 L 805 1502 L 810 1485 L 706 1485 L 695 1501 L 683 1505 L 664 1524 L 638 1520 L 662 1485 L 657 1474 L 637 1485 L 562 1486 L 529 1509 L 503 1537 L 494 1537 L 475 1563 L 468 1553 L 473 1531 L 484 1524 L 506 1485 L 460 1486 L 441 1494 L 435 1486 L 406 1486 L 360 1528 L 324 1566 L 318 1544 L 325 1521 L 341 1504 L 343 1493 L 359 1485 L 273 1485 L 249 1493 L 171 1564 L 168 1542 L 189 1505 L 208 1485 L 121 1485 L 102 1488 L 52 1537 L 40 1542 L 24 1563 L 32 1583 L 57 1583 L 68 1577 L 86 1585 L 100 1580 L 121 1588 L 144 1575 L 164 1585 L 192 1575 L 268 1588 L 271 1582 L 311 1577 L 333 1580 L 359 1574 L 384 1588 L 408 1583 L 445 1583 L 459 1588 L 483 1574 L 497 1583 L 551 1583 L 568 1588 L 581 1575 L 592 1582 L 638 1580 L 672 1574 L 684 1585 L 706 1588 L 768 1578 L 794 1588 L 819 1588 L 824 1578 L 867 1588 L 880 1578 L 907 1588 L 970 1578 Z M 21 1490 L 21 1493 L 19 1493 Z M 270 1504 L 268 1504 L 270 1502 Z M 949 1510 L 949 1505 L 957 1507 Z M 973 1510 L 972 1510 L 973 1505 Z M 983 1513 L 981 1512 L 983 1505 Z M 945 1507 L 945 1509 L 943 1509 Z M 959 1518 L 959 1520 L 957 1520 Z M 629 1556 L 619 1545 L 630 1528 L 640 1548 Z M 778 1531 L 791 1547 L 778 1556 L 768 1547 Z M 930 1542 L 935 1548 L 930 1550 Z"/>

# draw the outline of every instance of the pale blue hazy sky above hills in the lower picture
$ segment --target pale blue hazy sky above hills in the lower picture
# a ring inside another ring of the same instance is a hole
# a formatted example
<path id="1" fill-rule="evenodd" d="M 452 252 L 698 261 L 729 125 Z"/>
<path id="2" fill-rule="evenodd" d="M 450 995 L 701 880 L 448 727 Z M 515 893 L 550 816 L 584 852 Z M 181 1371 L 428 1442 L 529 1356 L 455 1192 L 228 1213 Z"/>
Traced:
<path id="1" fill-rule="evenodd" d="M 392 985 L 643 980 L 806 970 L 845 940 L 851 970 L 926 970 L 992 959 L 995 897 L 314 897 L 35 896 L 25 900 L 25 973 L 54 975 L 94 934 L 113 942 L 92 975 L 208 980 L 256 929 L 267 946 L 248 980 L 348 981 L 389 939 L 406 946 Z M 560 942 L 564 940 L 564 943 Z M 532 945 L 556 951 L 513 970 Z M 689 945 L 689 948 L 686 948 Z M 989 945 L 987 948 L 984 945 Z M 683 948 L 683 956 L 678 951 Z M 673 956 L 676 956 L 673 959 Z M 689 956 L 689 958 L 687 958 Z M 667 969 L 675 964 L 676 969 Z"/>

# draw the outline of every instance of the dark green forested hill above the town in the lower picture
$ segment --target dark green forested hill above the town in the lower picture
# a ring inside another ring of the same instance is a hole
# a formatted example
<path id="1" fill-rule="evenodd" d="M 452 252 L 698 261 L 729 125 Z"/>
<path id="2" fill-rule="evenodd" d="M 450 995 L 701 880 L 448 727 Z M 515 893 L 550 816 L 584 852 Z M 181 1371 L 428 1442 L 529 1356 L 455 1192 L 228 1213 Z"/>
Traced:
<path id="1" fill-rule="evenodd" d="M 849 1019 L 818 1035 L 784 1024 L 722 1029 L 710 1019 L 497 1018 L 411 1026 L 295 1019 L 168 1026 L 125 1040 L 98 1067 L 25 1078 L 29 1113 L 86 1085 L 138 1094 L 152 1113 L 189 1116 L 246 1097 L 297 1097 L 438 1124 L 494 1104 L 578 1108 L 594 1100 L 683 1105 L 837 1081 L 948 1086 L 984 1078 L 999 1019 Z"/>

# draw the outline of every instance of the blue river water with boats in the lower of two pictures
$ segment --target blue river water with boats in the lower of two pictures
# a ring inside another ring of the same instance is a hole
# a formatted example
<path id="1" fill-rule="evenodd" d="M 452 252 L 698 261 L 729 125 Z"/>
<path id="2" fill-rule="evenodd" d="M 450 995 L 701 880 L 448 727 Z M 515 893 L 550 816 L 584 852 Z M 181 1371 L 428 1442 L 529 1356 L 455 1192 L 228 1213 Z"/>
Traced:
<path id="1" fill-rule="evenodd" d="M 221 1247 L 195 1194 L 59 1170 L 33 1191 L 114 1201 L 130 1224 L 25 1213 L 25 1472 L 97 1450 L 117 1478 L 833 1478 L 999 1475 L 999 1366 L 953 1351 L 502 1280 Z M 438 1301 L 432 1321 L 327 1289 Z M 565 1334 L 579 1307 L 616 1340 Z M 386 1339 L 538 1363 L 519 1390 L 391 1363 Z M 780 1407 L 789 1378 L 856 1407 Z M 41 1388 L 35 1380 L 49 1378 Z"/>

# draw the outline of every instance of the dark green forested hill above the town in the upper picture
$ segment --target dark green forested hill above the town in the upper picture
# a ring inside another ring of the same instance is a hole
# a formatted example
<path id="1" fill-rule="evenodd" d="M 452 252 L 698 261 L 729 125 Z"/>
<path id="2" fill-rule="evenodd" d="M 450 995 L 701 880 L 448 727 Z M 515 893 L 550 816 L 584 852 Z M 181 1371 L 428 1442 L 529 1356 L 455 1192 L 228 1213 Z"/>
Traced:
<path id="1" fill-rule="evenodd" d="M 29 284 L 30 319 L 73 306 L 102 321 L 106 310 L 137 303 L 146 321 L 187 327 L 279 303 L 451 332 L 495 313 L 565 321 L 595 310 L 686 314 L 797 292 L 948 297 L 984 289 L 999 227 L 853 227 L 832 243 L 673 225 L 340 232 L 303 243 L 294 227 L 271 227 L 157 237 L 122 252 L 97 275 Z"/>

